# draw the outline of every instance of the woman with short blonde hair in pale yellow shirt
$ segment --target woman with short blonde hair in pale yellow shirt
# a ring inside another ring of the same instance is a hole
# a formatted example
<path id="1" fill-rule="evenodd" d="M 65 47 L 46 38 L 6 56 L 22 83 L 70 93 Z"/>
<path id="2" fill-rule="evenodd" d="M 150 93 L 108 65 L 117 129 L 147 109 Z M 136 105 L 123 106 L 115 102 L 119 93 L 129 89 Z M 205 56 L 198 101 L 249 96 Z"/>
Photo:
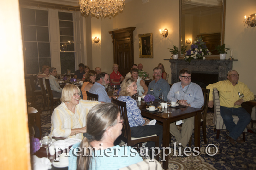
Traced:
<path id="1" fill-rule="evenodd" d="M 65 85 L 62 103 L 54 109 L 51 117 L 51 135 L 54 137 L 82 139 L 86 132 L 86 114 L 98 101 L 81 100 L 80 89 L 76 85 Z"/>

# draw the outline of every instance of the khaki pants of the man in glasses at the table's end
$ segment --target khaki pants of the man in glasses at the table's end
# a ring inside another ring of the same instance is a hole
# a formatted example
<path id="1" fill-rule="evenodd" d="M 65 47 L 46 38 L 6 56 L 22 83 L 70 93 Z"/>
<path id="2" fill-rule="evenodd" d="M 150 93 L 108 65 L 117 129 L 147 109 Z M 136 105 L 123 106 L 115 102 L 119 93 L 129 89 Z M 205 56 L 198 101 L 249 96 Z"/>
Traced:
<path id="1" fill-rule="evenodd" d="M 181 143 L 183 147 L 187 147 L 187 144 L 193 133 L 194 119 L 194 117 L 184 119 L 184 123 L 181 127 L 181 132 L 178 130 L 176 122 L 170 124 L 170 133 L 175 137 L 177 141 L 176 147 L 179 146 L 179 143 Z"/>

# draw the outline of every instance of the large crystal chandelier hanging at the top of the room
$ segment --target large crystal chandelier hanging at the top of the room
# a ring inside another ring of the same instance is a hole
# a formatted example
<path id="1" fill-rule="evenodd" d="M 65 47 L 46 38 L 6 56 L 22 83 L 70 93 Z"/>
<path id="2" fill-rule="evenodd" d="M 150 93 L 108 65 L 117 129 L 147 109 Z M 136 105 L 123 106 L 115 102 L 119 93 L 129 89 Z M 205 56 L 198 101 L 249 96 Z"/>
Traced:
<path id="1" fill-rule="evenodd" d="M 81 13 L 85 12 L 88 15 L 91 12 L 96 17 L 111 14 L 114 16 L 123 10 L 124 3 L 125 0 L 78 0 Z"/>

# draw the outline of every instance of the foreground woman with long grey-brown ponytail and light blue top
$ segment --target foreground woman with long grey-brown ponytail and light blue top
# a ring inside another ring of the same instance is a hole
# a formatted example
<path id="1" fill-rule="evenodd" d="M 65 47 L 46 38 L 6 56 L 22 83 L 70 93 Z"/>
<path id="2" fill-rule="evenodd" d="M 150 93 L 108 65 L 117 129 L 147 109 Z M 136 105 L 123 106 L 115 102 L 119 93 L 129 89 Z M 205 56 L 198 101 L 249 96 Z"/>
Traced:
<path id="1" fill-rule="evenodd" d="M 117 170 L 143 161 L 130 146 L 114 145 L 123 128 L 119 109 L 114 104 L 102 103 L 91 108 L 86 123 L 82 142 L 74 144 L 69 152 L 69 170 Z M 93 148 L 92 152 L 86 148 Z"/>

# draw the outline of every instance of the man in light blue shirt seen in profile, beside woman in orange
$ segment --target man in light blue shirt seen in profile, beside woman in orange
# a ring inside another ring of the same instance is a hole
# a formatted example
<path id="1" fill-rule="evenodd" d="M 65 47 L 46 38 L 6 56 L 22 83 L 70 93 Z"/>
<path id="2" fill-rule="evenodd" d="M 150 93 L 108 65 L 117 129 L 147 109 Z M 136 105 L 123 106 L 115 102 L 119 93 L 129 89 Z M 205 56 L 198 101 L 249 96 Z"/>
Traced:
<path id="1" fill-rule="evenodd" d="M 99 95 L 99 102 L 101 103 L 111 103 L 109 96 L 105 90 L 105 85 L 109 83 L 109 75 L 107 73 L 100 73 L 96 77 L 95 84 L 91 87 L 90 93 Z"/>

